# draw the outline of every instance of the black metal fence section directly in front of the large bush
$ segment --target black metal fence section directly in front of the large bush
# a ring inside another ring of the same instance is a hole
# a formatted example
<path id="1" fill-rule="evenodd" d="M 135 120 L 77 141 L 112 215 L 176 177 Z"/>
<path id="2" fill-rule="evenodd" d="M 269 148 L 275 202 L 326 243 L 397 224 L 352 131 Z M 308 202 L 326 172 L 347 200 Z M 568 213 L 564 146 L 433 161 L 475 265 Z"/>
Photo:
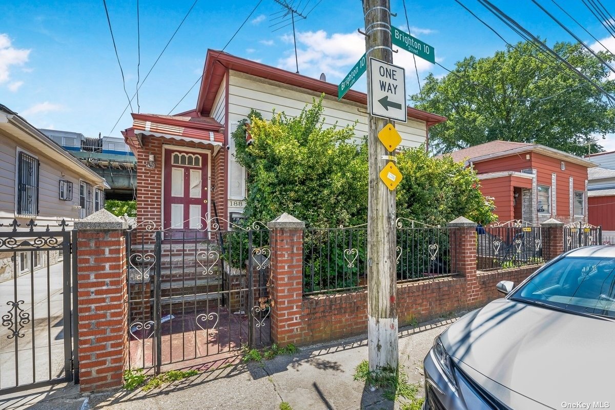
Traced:
<path id="1" fill-rule="evenodd" d="M 397 281 L 454 274 L 453 231 L 413 223 L 397 228 Z M 367 226 L 305 229 L 303 294 L 360 290 L 367 286 Z"/>

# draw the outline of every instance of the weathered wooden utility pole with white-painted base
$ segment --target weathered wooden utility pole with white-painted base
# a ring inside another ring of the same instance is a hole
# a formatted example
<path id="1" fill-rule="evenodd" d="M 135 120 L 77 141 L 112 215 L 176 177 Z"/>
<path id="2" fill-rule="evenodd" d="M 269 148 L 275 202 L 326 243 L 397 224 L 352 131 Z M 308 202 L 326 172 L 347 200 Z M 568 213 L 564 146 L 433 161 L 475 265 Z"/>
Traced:
<path id="1" fill-rule="evenodd" d="M 366 60 L 370 57 L 393 62 L 391 49 L 391 6 L 389 0 L 363 0 Z M 367 92 L 370 101 L 370 67 Z M 369 102 L 368 102 L 369 104 Z M 368 107 L 368 112 L 371 112 Z M 367 337 L 371 371 L 397 369 L 397 280 L 395 254 L 395 191 L 379 178 L 389 152 L 378 140 L 378 132 L 389 120 L 368 115 L 369 203 L 367 211 Z"/>

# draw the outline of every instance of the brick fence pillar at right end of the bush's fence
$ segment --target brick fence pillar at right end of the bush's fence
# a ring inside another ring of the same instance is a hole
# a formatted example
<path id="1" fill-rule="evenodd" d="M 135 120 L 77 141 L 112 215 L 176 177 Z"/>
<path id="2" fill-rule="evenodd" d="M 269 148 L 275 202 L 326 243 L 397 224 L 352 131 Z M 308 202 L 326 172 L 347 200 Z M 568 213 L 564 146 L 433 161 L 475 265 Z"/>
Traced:
<path id="1" fill-rule="evenodd" d="M 466 305 L 475 306 L 481 299 L 476 277 L 476 223 L 459 218 L 446 224 L 450 229 L 451 267 L 466 278 Z M 459 301 L 461 304 L 464 301 Z"/>

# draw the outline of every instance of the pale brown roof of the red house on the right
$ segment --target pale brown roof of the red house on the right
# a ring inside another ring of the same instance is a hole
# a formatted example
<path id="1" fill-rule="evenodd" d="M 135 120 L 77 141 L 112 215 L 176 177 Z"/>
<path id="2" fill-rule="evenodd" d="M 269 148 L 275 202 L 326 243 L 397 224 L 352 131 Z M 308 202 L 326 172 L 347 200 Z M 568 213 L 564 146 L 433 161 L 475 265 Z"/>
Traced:
<path id="1" fill-rule="evenodd" d="M 574 164 L 582 165 L 587 168 L 597 166 L 589 160 L 574 156 L 573 154 L 568 154 L 568 152 L 549 148 L 541 144 L 517 143 L 513 141 L 501 140 L 490 141 L 488 143 L 459 149 L 458 151 L 453 151 L 449 154 L 443 154 L 438 157 L 442 158 L 443 156 L 451 156 L 457 162 L 466 161 L 466 163 L 469 164 L 470 162 L 486 161 L 494 158 L 506 157 L 530 151 L 539 152 L 540 154 L 572 162 Z"/>

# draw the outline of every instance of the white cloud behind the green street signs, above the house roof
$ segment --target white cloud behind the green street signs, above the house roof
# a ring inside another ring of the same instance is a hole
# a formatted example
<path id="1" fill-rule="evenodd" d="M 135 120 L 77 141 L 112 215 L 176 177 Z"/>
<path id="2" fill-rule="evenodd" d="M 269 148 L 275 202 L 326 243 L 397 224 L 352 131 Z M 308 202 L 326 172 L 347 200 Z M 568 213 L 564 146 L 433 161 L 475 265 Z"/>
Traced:
<path id="1" fill-rule="evenodd" d="M 293 43 L 292 36 L 283 36 L 282 40 L 288 44 Z M 301 74 L 318 77 L 320 73 L 325 73 L 327 81 L 335 83 L 341 81 L 361 55 L 365 53 L 365 37 L 356 32 L 328 35 L 323 30 L 307 31 L 297 33 L 297 46 Z M 397 47 L 394 47 L 394 49 L 397 49 Z M 393 63 L 404 67 L 407 70 L 407 77 L 415 71 L 412 54 L 404 50 L 399 50 L 399 53 L 393 55 Z M 281 58 L 278 65 L 280 68 L 295 71 L 294 50 L 288 50 L 287 57 Z M 428 61 L 418 57 L 416 58 L 416 66 L 419 73 L 433 67 Z"/>

